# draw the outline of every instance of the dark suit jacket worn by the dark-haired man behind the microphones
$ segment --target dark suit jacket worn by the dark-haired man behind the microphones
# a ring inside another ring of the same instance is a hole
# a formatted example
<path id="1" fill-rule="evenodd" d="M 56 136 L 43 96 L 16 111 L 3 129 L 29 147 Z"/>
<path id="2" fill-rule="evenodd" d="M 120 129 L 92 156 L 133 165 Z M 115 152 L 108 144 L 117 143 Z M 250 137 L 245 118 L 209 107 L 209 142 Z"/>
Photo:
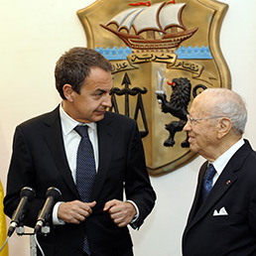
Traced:
<path id="1" fill-rule="evenodd" d="M 109 213 L 102 211 L 105 202 L 114 198 L 123 200 L 125 189 L 126 198 L 139 207 L 138 227 L 154 206 L 156 195 L 150 185 L 136 122 L 107 112 L 97 123 L 97 132 L 99 167 L 91 198 L 97 204 L 83 223 L 51 225 L 48 236 L 38 236 L 48 256 L 79 255 L 85 230 L 92 256 L 121 255 L 132 247 L 130 234 L 127 227 L 119 228 Z M 34 188 L 37 194 L 29 203 L 24 219 L 25 225 L 31 227 L 35 227 L 50 187 L 62 192 L 60 201 L 80 199 L 65 156 L 59 107 L 16 128 L 4 199 L 4 211 L 9 217 L 19 203 L 21 189 L 26 186 Z"/>

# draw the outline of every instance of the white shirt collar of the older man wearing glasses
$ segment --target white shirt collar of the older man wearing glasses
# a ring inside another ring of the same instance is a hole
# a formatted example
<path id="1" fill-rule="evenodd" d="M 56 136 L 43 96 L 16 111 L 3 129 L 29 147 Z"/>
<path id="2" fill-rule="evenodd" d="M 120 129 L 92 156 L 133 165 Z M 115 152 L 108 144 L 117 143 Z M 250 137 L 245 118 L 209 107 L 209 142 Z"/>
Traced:
<path id="1" fill-rule="evenodd" d="M 228 161 L 236 153 L 236 151 L 243 146 L 243 144 L 244 140 L 243 138 L 241 138 L 231 148 L 229 148 L 225 153 L 223 153 L 219 158 L 217 158 L 213 163 L 211 163 L 213 164 L 214 169 L 216 170 L 218 175 L 222 173 Z"/>

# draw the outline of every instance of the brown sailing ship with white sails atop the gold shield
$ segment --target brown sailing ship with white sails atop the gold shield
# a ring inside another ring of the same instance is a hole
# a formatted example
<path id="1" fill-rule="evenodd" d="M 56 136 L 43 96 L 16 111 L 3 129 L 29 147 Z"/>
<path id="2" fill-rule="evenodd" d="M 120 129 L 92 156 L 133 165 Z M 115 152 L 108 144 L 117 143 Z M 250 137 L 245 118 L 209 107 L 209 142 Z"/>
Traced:
<path id="1" fill-rule="evenodd" d="M 114 16 L 106 26 L 100 26 L 114 33 L 136 52 L 151 50 L 174 53 L 198 29 L 188 30 L 183 24 L 182 12 L 186 3 L 147 3 L 149 7 L 124 10 Z M 116 29 L 111 28 L 112 25 Z"/>

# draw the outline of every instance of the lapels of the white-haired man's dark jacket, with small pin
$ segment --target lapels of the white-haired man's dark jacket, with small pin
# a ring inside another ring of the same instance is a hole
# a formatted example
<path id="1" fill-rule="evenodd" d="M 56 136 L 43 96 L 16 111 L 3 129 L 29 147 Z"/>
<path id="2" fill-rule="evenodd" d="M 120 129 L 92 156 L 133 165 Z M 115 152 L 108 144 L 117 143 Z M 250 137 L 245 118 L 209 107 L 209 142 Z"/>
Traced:
<path id="1" fill-rule="evenodd" d="M 188 220 L 188 227 L 191 228 L 197 221 L 199 221 L 228 190 L 237 181 L 236 172 L 241 170 L 245 158 L 252 151 L 249 142 L 245 140 L 245 144 L 233 155 L 226 167 L 222 171 L 212 190 L 209 192 L 205 201 L 199 206 L 200 193 L 202 190 L 202 177 L 205 173 L 206 163 L 203 164 L 203 171 L 199 177 L 198 187 L 196 189 L 192 210 Z M 212 212 L 213 214 L 213 212 Z"/>

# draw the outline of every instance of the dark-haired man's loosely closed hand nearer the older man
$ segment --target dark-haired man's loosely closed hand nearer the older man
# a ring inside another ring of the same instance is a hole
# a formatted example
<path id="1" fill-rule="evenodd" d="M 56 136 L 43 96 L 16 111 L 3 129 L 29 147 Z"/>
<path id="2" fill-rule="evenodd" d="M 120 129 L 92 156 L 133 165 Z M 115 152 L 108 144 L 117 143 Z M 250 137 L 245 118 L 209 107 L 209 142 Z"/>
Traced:
<path id="1" fill-rule="evenodd" d="M 137 213 L 131 202 L 117 199 L 107 201 L 103 210 L 108 210 L 110 217 L 119 227 L 127 226 Z"/>

